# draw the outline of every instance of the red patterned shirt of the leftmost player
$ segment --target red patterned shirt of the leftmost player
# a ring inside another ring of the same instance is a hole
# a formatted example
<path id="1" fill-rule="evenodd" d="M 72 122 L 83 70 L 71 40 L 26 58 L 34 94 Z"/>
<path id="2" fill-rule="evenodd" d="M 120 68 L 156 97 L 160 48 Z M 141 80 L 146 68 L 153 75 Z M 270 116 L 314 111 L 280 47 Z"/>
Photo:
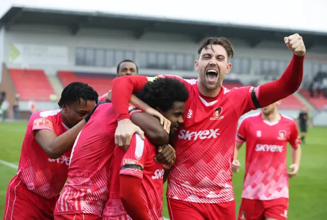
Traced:
<path id="1" fill-rule="evenodd" d="M 68 130 L 62 122 L 59 109 L 37 111 L 30 117 L 22 142 L 17 176 L 32 192 L 44 198 L 54 198 L 67 180 L 71 150 L 58 159 L 51 159 L 34 137 L 34 131 L 43 129 L 51 130 L 57 136 Z"/>

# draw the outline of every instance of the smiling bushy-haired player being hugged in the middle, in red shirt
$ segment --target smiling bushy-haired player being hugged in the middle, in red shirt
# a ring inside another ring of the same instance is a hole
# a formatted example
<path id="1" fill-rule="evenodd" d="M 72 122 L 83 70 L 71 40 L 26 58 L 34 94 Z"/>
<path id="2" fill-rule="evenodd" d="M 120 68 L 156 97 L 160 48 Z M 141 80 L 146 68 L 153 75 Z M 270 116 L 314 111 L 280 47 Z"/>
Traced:
<path id="1" fill-rule="evenodd" d="M 184 84 L 170 78 L 157 79 L 146 84 L 137 97 L 171 121 L 170 137 L 174 137 L 183 123 L 185 102 L 189 98 Z M 138 134 L 133 135 L 126 154 L 115 148 L 109 201 L 103 220 L 163 219 L 164 169 L 153 160 L 155 153 L 153 144 Z M 122 204 L 126 211 L 121 209 Z"/>

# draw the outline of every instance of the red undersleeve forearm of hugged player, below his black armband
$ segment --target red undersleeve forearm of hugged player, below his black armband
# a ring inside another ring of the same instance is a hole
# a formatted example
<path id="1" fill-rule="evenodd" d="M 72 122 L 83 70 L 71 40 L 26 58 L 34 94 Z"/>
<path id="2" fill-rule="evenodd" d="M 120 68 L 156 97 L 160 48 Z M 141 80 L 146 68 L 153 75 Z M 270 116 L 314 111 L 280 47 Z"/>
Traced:
<path id="1" fill-rule="evenodd" d="M 127 214 L 133 220 L 149 220 L 141 196 L 142 180 L 137 177 L 120 175 L 120 198 Z"/>

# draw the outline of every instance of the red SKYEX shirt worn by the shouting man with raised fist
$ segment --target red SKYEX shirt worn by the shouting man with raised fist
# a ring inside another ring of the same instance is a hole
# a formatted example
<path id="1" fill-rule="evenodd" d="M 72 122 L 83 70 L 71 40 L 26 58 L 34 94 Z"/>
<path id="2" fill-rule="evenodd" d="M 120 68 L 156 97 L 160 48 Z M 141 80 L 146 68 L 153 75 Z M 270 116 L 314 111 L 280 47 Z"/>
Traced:
<path id="1" fill-rule="evenodd" d="M 255 109 L 252 100 L 260 87 L 222 87 L 217 97 L 208 98 L 200 94 L 197 80 L 176 79 L 186 85 L 190 97 L 174 143 L 176 163 L 167 197 L 195 203 L 232 201 L 231 162 L 238 120 Z"/>

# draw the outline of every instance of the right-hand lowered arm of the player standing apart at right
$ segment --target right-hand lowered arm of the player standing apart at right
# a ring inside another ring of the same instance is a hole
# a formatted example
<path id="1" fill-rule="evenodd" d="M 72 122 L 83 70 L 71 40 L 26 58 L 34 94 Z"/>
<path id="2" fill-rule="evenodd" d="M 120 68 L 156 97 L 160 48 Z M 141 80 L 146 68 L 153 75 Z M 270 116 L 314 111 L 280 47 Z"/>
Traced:
<path id="1" fill-rule="evenodd" d="M 301 161 L 301 139 L 297 130 L 297 126 L 294 123 L 292 125 L 292 133 L 290 135 L 289 142 L 292 146 L 292 164 L 289 166 L 289 168 L 292 170 L 290 172 L 287 172 L 287 175 L 289 178 L 293 178 L 300 167 L 300 161 Z"/>

